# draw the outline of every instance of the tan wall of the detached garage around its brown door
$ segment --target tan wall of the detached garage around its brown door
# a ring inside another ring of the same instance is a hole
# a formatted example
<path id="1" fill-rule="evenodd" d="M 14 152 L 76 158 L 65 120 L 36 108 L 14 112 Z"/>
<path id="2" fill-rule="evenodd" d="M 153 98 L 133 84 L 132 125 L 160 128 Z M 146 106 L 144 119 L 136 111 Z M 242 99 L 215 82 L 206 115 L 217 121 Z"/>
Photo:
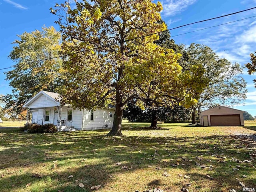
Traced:
<path id="1" fill-rule="evenodd" d="M 201 126 L 204 126 L 203 116 L 208 116 L 208 124 L 209 126 L 211 126 L 211 121 L 210 121 L 211 115 L 234 115 L 234 114 L 240 115 L 241 126 L 244 126 L 244 115 L 243 115 L 244 112 L 240 110 L 232 109 L 229 107 L 224 107 L 224 106 L 217 106 L 201 112 L 200 124 Z"/>

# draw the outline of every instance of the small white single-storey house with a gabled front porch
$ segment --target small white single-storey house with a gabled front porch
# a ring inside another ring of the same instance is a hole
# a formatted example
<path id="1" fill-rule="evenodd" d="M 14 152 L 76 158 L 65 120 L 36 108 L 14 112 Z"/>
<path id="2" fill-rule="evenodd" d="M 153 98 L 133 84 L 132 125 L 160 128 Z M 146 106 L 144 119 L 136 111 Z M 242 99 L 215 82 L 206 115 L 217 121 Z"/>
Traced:
<path id="1" fill-rule="evenodd" d="M 59 98 L 60 94 L 48 91 L 36 94 L 23 106 L 28 108 L 27 123 L 54 124 L 59 131 L 112 128 L 114 106 L 102 110 L 76 110 L 70 105 L 62 106 Z"/>

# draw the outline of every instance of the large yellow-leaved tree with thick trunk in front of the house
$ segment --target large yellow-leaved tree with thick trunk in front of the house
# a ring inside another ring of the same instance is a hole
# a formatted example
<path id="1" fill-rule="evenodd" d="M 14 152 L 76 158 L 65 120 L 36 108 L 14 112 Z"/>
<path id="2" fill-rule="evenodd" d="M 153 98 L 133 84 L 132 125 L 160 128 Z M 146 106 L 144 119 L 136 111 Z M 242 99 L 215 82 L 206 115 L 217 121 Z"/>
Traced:
<path id="1" fill-rule="evenodd" d="M 74 9 L 69 2 L 52 9 L 68 55 L 64 66 L 70 75 L 62 101 L 87 109 L 114 102 L 110 136 L 122 134 L 123 110 L 138 84 L 157 79 L 159 70 L 171 73 L 172 82 L 180 75 L 180 55 L 154 43 L 157 33 L 166 30 L 159 23 L 161 10 L 160 2 L 151 0 L 82 0 Z"/>

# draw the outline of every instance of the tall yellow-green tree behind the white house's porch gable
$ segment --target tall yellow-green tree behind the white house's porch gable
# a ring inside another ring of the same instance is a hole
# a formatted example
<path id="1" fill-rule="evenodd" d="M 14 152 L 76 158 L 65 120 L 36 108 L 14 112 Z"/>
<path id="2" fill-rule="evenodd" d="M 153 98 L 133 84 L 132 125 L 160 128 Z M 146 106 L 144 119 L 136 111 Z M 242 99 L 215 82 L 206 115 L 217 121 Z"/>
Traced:
<path id="1" fill-rule="evenodd" d="M 60 32 L 54 27 L 43 27 L 42 30 L 24 32 L 18 38 L 9 55 L 15 63 L 14 69 L 6 72 L 12 94 L 3 98 L 5 109 L 16 116 L 25 110 L 23 104 L 39 91 L 58 92 L 63 84 L 62 60 L 49 59 L 59 56 Z"/>

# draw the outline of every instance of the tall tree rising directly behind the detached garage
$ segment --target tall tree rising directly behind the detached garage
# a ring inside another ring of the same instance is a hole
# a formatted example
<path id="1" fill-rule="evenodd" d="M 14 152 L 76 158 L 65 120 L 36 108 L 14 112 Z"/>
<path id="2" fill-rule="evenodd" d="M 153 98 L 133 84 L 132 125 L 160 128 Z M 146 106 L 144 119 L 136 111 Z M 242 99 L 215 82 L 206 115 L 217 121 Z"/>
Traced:
<path id="1" fill-rule="evenodd" d="M 192 107 L 192 123 L 196 124 L 196 109 L 210 108 L 217 105 L 241 104 L 246 98 L 246 82 L 240 76 L 243 68 L 232 64 L 225 58 L 220 58 L 210 47 L 200 44 L 191 44 L 187 66 L 202 64 L 205 68 L 204 77 L 208 78 L 208 86 L 200 95 L 198 103 Z"/>

